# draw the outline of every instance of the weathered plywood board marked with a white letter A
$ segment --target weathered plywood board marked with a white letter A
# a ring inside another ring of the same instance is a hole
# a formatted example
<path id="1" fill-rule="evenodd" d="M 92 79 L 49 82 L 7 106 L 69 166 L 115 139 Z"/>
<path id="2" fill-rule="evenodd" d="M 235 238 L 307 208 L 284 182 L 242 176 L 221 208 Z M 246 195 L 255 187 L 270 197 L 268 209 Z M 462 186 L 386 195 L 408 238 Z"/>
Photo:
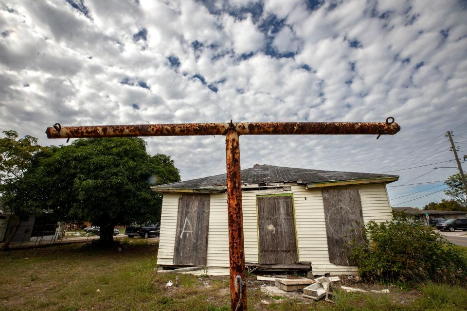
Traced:
<path id="1" fill-rule="evenodd" d="M 174 264 L 206 265 L 209 203 L 209 194 L 183 194 L 180 197 Z"/>

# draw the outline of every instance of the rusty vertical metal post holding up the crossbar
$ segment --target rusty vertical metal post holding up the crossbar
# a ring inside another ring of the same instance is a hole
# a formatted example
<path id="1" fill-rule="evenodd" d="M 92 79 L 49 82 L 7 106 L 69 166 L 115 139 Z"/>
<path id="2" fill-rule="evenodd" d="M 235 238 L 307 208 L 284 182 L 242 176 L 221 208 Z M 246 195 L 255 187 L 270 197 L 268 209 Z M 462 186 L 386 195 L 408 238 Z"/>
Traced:
<path id="1" fill-rule="evenodd" d="M 238 132 L 233 126 L 231 126 L 225 135 L 225 152 L 227 161 L 227 214 L 229 220 L 230 299 L 232 311 L 244 311 L 247 310 L 247 289 L 245 279 L 245 250 L 243 245 L 240 144 Z M 239 282 L 240 280 L 241 282 Z"/>

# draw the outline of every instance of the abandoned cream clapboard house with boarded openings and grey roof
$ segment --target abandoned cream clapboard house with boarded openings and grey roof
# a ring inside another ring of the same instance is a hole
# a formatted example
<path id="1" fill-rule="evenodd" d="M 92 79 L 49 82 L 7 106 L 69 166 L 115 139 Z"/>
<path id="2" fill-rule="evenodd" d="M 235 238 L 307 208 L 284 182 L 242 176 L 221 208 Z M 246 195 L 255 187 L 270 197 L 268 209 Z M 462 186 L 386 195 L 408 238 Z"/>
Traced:
<path id="1" fill-rule="evenodd" d="M 245 262 L 260 269 L 353 274 L 349 240 L 392 219 L 385 185 L 398 176 L 254 165 L 241 171 Z M 158 264 L 228 275 L 226 174 L 151 187 L 163 193 Z"/>

